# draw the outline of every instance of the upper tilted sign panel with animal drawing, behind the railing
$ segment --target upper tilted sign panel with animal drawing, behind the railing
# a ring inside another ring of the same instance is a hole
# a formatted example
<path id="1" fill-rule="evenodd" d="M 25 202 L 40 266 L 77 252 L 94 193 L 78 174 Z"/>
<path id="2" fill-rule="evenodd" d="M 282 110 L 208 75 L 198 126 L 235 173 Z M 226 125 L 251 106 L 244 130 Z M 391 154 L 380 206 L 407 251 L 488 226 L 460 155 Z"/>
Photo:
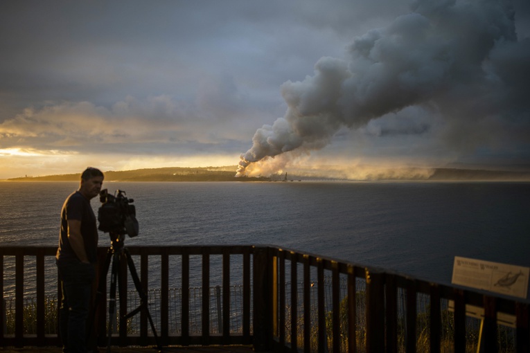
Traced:
<path id="1" fill-rule="evenodd" d="M 527 298 L 529 267 L 454 257 L 452 284 Z"/>

